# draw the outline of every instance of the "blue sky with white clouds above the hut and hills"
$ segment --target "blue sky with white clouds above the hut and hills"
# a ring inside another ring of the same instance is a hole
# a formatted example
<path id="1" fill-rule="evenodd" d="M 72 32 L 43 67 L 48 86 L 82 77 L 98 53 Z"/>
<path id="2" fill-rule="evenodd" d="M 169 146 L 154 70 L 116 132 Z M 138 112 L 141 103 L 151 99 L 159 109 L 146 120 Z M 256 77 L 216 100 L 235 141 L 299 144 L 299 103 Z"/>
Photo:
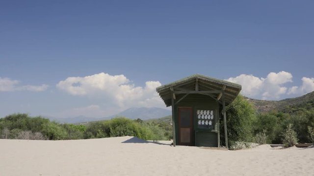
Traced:
<path id="1" fill-rule="evenodd" d="M 195 73 L 239 83 L 252 98 L 303 95 L 314 90 L 313 7 L 310 0 L 0 1 L 0 117 L 164 108 L 155 87 Z"/>

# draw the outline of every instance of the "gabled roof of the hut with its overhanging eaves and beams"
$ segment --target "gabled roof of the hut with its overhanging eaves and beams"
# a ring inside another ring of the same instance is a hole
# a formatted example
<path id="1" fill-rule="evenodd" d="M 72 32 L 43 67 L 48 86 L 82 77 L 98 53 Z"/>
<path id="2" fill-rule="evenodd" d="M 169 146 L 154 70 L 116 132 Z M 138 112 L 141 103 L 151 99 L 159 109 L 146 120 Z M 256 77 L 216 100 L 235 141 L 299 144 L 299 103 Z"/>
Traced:
<path id="1" fill-rule="evenodd" d="M 156 90 L 167 107 L 171 106 L 171 96 L 178 95 L 178 97 L 184 98 L 186 95 L 193 93 L 207 95 L 220 104 L 222 104 L 221 97 L 223 95 L 228 106 L 241 91 L 241 85 L 195 74 L 160 86 Z"/>

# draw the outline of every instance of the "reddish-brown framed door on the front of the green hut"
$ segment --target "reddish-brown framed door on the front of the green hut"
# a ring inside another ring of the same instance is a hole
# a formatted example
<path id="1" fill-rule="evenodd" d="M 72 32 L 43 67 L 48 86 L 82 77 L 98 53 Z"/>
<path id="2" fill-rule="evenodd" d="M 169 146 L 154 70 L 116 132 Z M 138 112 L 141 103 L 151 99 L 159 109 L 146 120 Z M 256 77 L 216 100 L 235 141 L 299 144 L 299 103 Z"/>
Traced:
<path id="1" fill-rule="evenodd" d="M 179 108 L 179 144 L 193 146 L 193 109 Z"/>

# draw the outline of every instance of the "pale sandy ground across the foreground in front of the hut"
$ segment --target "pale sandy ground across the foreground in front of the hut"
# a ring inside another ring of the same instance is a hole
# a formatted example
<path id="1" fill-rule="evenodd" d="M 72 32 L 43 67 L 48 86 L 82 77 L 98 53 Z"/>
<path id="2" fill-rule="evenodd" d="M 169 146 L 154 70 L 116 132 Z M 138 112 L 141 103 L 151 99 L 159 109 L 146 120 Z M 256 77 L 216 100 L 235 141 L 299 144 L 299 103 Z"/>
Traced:
<path id="1" fill-rule="evenodd" d="M 225 151 L 155 144 L 125 136 L 0 139 L 0 176 L 313 176 L 314 148 Z"/>

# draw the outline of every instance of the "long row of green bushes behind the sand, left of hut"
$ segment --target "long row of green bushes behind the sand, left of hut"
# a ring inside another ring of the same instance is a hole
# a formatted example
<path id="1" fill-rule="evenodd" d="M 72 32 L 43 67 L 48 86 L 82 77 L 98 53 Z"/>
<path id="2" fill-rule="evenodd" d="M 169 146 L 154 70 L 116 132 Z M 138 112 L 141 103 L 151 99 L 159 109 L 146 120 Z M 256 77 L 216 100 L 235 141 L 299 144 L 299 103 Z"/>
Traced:
<path id="1" fill-rule="evenodd" d="M 170 140 L 170 124 L 145 123 L 116 117 L 111 120 L 91 122 L 86 125 L 61 124 L 43 117 L 30 117 L 25 113 L 0 118 L 0 138 L 70 140 L 116 136 L 136 136 L 145 140 Z"/>

